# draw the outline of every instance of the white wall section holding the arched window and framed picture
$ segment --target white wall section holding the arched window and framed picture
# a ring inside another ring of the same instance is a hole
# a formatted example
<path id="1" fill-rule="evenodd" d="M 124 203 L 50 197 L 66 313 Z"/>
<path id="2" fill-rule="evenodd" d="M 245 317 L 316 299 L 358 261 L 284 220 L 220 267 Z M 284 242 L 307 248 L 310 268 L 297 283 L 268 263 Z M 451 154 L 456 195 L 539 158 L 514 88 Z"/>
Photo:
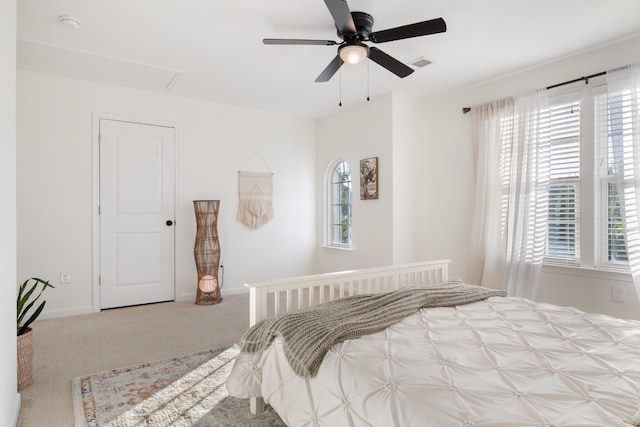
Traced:
<path id="1" fill-rule="evenodd" d="M 353 179 L 353 247 L 321 247 L 319 271 L 421 260 L 417 254 L 423 242 L 416 230 L 422 217 L 416 199 L 426 188 L 423 159 L 416 155 L 421 144 L 418 111 L 415 99 L 391 93 L 318 120 L 319 218 L 327 166 L 342 158 L 351 166 Z M 378 157 L 377 200 L 360 200 L 360 160 L 368 157 Z M 323 231 L 319 221 L 319 242 Z"/>

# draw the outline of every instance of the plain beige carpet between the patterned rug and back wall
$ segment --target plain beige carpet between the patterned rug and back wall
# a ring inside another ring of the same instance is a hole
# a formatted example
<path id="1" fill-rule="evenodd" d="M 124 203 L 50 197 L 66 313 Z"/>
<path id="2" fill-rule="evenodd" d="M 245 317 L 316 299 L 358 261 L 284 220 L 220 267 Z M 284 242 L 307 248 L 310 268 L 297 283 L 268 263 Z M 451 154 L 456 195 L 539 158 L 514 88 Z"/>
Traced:
<path id="1" fill-rule="evenodd" d="M 249 295 L 222 303 L 152 304 L 34 324 L 33 384 L 21 392 L 19 427 L 74 426 L 74 378 L 230 346 L 249 325 Z"/>

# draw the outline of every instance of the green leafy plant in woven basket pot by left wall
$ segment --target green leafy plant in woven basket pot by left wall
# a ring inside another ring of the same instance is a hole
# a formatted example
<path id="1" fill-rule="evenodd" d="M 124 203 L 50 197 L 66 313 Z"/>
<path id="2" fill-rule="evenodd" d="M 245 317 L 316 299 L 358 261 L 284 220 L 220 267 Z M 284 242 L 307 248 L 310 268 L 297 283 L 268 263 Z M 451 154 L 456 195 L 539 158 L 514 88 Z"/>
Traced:
<path id="1" fill-rule="evenodd" d="M 37 293 L 38 288 L 40 291 Z M 18 391 L 33 382 L 33 330 L 30 325 L 38 318 L 46 301 L 32 311 L 42 292 L 47 288 L 54 288 L 48 280 L 32 277 L 20 285 L 18 291 L 17 333 L 18 333 Z M 31 298 L 35 295 L 35 298 Z"/>

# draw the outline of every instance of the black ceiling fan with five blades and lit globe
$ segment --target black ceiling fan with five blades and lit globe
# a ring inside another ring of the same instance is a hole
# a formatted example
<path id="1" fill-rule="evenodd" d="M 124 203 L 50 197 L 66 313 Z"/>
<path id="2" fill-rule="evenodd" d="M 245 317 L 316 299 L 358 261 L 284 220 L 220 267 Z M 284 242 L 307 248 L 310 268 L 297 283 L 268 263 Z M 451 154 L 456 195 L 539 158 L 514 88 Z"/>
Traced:
<path id="1" fill-rule="evenodd" d="M 415 24 L 389 28 L 387 30 L 372 32 L 373 17 L 365 12 L 351 12 L 346 0 L 324 0 L 333 20 L 336 24 L 338 37 L 341 42 L 333 40 L 309 40 L 309 39 L 263 39 L 264 44 L 280 45 L 338 45 L 338 54 L 320 73 L 316 82 L 327 82 L 340 69 L 343 63 L 358 64 L 365 58 L 381 65 L 395 75 L 404 78 L 413 73 L 413 68 L 403 64 L 376 47 L 369 47 L 363 42 L 386 43 L 394 40 L 408 39 L 411 37 L 426 36 L 429 34 L 443 33 L 447 31 L 444 19 L 437 18 Z"/>

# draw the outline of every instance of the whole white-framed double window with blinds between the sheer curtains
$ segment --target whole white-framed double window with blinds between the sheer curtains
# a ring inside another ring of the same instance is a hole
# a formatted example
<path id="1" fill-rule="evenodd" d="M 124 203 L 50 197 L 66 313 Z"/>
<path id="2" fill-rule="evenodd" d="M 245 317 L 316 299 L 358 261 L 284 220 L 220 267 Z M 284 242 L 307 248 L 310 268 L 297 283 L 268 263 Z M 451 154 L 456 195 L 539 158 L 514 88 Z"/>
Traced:
<path id="1" fill-rule="evenodd" d="M 632 193 L 625 189 L 640 179 L 634 176 L 632 150 L 638 101 L 631 92 L 608 93 L 604 78 L 559 89 L 553 96 L 548 121 L 545 117 L 539 123 L 550 126 L 544 263 L 628 271 L 627 247 L 635 241 L 627 241 L 623 232 L 621 201 Z M 514 120 L 505 117 L 498 135 L 503 233 L 511 208 L 510 162 L 517 161 L 509 144 Z M 539 143 L 546 144 L 546 138 Z"/>

